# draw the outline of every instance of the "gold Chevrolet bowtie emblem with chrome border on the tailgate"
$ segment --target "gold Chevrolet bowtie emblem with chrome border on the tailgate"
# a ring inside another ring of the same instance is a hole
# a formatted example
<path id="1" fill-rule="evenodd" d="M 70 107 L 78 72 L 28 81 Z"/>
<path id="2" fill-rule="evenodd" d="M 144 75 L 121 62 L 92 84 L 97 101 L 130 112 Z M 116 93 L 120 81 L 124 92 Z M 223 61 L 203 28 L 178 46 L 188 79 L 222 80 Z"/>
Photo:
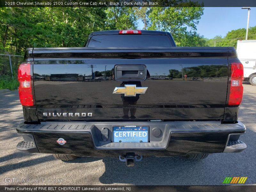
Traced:
<path id="1" fill-rule="evenodd" d="M 144 94 L 148 87 L 136 87 L 136 85 L 124 85 L 125 87 L 116 87 L 114 92 L 115 94 L 124 94 L 124 96 L 133 96 L 136 94 Z"/>

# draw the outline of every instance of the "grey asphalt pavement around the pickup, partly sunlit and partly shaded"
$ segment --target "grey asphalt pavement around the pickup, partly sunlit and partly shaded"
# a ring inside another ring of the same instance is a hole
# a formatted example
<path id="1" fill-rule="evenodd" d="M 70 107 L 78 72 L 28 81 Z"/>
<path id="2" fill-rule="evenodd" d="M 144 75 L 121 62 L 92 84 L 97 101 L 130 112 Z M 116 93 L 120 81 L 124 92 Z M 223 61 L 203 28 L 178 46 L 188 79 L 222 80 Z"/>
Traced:
<path id="1" fill-rule="evenodd" d="M 126 167 L 115 158 L 78 157 L 62 162 L 50 154 L 16 150 L 23 121 L 18 91 L 0 91 L 0 185 L 222 185 L 225 177 L 248 177 L 256 184 L 256 86 L 244 83 L 239 120 L 247 130 L 241 153 L 211 154 L 202 161 L 181 157 L 151 157 Z"/>

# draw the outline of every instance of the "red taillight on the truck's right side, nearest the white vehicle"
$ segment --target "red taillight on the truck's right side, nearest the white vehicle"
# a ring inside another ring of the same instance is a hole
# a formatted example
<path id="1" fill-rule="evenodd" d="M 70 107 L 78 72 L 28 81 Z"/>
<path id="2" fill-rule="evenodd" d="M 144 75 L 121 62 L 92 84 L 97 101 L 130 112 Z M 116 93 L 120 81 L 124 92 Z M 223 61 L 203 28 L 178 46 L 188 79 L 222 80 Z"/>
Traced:
<path id="1" fill-rule="evenodd" d="M 231 79 L 228 105 L 240 105 L 243 98 L 244 67 L 242 63 L 231 63 Z"/>

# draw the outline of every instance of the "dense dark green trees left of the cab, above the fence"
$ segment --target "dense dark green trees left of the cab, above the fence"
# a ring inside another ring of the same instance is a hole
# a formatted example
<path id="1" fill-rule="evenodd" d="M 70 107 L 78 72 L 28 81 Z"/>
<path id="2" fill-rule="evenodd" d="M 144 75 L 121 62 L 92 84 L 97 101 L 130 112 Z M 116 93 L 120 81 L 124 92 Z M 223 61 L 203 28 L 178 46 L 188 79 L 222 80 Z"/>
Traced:
<path id="1" fill-rule="evenodd" d="M 2 7 L 0 49 L 22 54 L 27 47 L 84 46 L 92 31 L 105 29 L 105 9 Z"/>

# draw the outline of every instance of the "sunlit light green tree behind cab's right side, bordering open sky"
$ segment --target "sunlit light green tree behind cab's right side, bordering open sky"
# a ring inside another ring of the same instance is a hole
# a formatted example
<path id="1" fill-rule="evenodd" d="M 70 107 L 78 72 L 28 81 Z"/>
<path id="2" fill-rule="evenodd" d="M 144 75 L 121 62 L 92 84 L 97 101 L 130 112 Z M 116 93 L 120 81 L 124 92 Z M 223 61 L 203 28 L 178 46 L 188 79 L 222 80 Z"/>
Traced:
<path id="1" fill-rule="evenodd" d="M 203 11 L 203 7 L 151 7 L 148 29 L 169 31 L 178 46 L 205 45 L 203 37 L 195 32 Z"/>

